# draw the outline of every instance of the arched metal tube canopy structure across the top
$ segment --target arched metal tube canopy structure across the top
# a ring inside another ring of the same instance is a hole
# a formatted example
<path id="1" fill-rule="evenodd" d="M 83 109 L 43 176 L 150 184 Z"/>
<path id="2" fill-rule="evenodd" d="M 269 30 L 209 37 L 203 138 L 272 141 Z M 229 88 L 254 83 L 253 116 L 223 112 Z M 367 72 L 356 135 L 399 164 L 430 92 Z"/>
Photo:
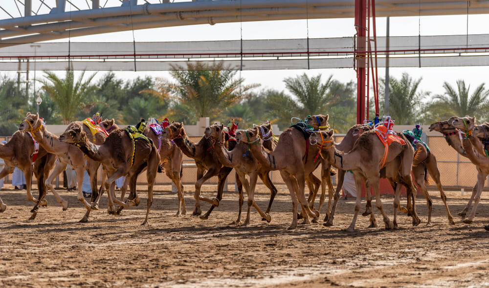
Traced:
<path id="1" fill-rule="evenodd" d="M 160 2 L 2 0 L 0 17 L 4 19 L 0 20 L 0 47 L 133 29 L 355 16 L 355 1 L 352 0 Z M 471 0 L 470 5 L 460 0 L 377 0 L 375 7 L 377 17 L 489 14 L 489 0 Z"/>

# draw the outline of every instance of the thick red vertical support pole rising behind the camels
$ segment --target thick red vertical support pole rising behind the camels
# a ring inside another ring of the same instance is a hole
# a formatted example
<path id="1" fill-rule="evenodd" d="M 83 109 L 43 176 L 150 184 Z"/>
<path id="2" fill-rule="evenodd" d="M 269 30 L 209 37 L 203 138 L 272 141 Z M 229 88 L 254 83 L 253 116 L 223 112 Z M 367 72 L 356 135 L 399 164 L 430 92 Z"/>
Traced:
<path id="1" fill-rule="evenodd" d="M 355 0 L 355 28 L 356 49 L 365 51 L 366 28 L 367 28 L 367 0 Z M 356 124 L 362 124 L 365 120 L 365 90 L 366 70 L 365 54 L 355 54 L 356 59 Z"/>

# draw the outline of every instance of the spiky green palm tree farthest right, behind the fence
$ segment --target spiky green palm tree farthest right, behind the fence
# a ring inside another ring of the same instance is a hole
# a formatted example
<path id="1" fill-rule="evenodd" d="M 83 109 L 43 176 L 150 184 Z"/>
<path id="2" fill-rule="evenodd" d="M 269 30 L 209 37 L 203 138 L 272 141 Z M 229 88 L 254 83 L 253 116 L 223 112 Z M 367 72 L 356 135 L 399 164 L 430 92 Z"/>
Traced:
<path id="1" fill-rule="evenodd" d="M 464 80 L 457 81 L 457 90 L 445 82 L 445 94 L 436 95 L 433 98 L 435 108 L 450 111 L 452 114 L 463 117 L 465 115 L 478 114 L 488 100 L 489 90 L 486 90 L 484 83 L 477 86 L 472 95 L 468 97 L 470 85 L 467 87 Z"/>

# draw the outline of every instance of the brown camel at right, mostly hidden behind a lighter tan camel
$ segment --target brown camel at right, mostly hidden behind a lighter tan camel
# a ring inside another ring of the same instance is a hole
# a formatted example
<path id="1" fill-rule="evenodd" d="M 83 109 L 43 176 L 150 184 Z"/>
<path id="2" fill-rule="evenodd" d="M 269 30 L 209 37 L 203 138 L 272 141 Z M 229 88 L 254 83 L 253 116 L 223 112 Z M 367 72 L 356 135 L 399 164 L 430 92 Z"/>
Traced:
<path id="1" fill-rule="evenodd" d="M 457 128 L 453 127 L 452 122 L 455 120 L 457 117 L 453 116 L 450 117 L 448 120 L 445 121 L 440 121 L 440 122 L 435 122 L 429 126 L 429 131 L 437 131 L 443 134 L 445 137 L 445 141 L 448 144 L 448 146 L 451 146 L 455 151 L 457 151 L 458 154 L 468 157 L 467 152 L 464 150 L 462 147 L 462 141 L 460 140 L 460 137 L 458 135 L 459 131 Z M 476 145 L 477 146 L 477 145 Z M 479 157 L 480 153 L 477 151 L 474 151 L 474 154 Z M 482 156 L 482 155 L 480 155 Z M 476 165 L 477 171 L 480 171 L 478 165 Z M 472 205 L 472 201 L 475 198 L 475 195 L 477 194 L 478 187 L 477 187 L 478 181 L 475 183 L 474 188 L 472 188 L 472 195 L 470 196 L 470 199 L 467 202 L 467 205 L 464 207 L 464 209 L 457 213 L 459 216 L 465 217 L 467 215 L 467 211 Z"/>

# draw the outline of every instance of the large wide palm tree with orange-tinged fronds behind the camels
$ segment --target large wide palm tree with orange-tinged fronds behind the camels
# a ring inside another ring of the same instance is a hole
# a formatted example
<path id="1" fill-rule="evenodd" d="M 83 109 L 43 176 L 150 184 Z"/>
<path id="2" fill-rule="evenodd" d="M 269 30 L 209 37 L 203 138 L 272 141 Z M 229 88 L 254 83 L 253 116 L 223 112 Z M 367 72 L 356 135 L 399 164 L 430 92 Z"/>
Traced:
<path id="1" fill-rule="evenodd" d="M 240 102 L 246 91 L 259 86 L 243 85 L 243 78 L 234 78 L 236 71 L 226 69 L 222 63 L 173 67 L 170 74 L 177 83 L 162 83 L 160 93 L 187 106 L 196 118 L 219 117 L 227 107 Z"/>

